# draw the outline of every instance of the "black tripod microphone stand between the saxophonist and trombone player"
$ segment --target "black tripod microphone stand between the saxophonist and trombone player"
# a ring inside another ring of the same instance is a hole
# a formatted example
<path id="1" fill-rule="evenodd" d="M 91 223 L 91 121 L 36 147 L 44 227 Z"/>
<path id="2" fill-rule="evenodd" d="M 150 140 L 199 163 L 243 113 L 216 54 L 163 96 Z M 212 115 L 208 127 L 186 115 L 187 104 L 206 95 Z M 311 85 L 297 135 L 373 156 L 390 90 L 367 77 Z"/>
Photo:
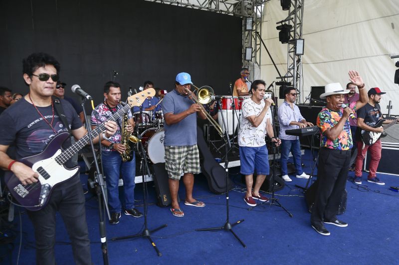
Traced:
<path id="1" fill-rule="evenodd" d="M 138 145 L 140 145 L 140 149 L 141 152 L 143 154 L 142 160 L 144 160 L 143 163 L 143 168 L 142 168 L 142 178 L 143 178 L 143 203 L 144 203 L 144 230 L 142 233 L 136 234 L 136 235 L 130 235 L 130 236 L 123 236 L 123 237 L 115 237 L 115 238 L 111 238 L 112 241 L 115 240 L 121 240 L 121 239 L 128 239 L 128 238 L 137 238 L 137 237 L 143 237 L 143 238 L 147 238 L 151 245 L 154 247 L 155 251 L 157 252 L 158 256 L 161 257 L 162 253 L 158 250 L 157 245 L 155 245 L 154 241 L 151 239 L 151 233 L 154 233 L 164 227 L 167 227 L 167 224 L 164 224 L 160 227 L 157 227 L 153 230 L 149 230 L 148 229 L 148 225 L 147 225 L 147 209 L 148 209 L 148 201 L 147 201 L 147 180 L 145 177 L 145 172 L 147 171 L 148 176 L 151 176 L 149 167 L 148 167 L 148 162 L 147 162 L 147 157 L 146 157 L 146 151 L 144 150 L 143 144 L 141 142 L 141 138 L 140 136 L 139 138 L 139 143 L 137 143 Z"/>

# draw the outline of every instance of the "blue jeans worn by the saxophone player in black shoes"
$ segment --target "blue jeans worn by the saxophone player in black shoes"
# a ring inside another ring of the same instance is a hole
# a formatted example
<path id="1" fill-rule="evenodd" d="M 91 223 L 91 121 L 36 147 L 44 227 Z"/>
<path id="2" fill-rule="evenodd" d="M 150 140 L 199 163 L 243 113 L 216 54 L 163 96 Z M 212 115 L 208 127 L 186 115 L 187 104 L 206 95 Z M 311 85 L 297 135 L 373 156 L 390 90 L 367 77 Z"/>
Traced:
<path id="1" fill-rule="evenodd" d="M 121 212 L 122 205 L 119 200 L 119 175 L 123 179 L 125 209 L 134 208 L 134 178 L 136 177 L 136 157 L 130 162 L 122 162 L 117 151 L 102 151 L 102 165 L 107 182 L 108 205 L 111 212 Z"/>

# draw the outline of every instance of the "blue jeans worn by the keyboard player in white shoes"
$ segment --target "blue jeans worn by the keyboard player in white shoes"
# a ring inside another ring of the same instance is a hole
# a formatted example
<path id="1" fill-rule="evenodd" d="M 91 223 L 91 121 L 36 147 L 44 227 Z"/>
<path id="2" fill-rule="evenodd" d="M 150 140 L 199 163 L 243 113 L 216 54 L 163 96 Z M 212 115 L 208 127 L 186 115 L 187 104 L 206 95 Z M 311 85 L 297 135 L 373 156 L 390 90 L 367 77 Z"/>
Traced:
<path id="1" fill-rule="evenodd" d="M 287 170 L 287 161 L 288 155 L 291 152 L 294 158 L 296 175 L 302 175 L 302 166 L 301 166 L 301 144 L 298 140 L 283 140 L 281 139 L 281 157 L 280 157 L 280 166 L 281 166 L 281 175 L 288 175 Z"/>

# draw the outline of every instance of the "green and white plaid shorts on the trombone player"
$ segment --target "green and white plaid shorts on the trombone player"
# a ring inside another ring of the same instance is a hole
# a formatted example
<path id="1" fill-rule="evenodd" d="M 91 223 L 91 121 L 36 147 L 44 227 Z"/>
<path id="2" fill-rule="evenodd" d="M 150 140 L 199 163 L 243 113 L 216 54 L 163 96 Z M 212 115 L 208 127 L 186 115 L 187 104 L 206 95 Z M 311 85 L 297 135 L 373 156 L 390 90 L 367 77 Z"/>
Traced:
<path id="1" fill-rule="evenodd" d="M 180 180 L 184 173 L 200 173 L 200 152 L 197 145 L 165 146 L 165 169 L 169 178 Z"/>

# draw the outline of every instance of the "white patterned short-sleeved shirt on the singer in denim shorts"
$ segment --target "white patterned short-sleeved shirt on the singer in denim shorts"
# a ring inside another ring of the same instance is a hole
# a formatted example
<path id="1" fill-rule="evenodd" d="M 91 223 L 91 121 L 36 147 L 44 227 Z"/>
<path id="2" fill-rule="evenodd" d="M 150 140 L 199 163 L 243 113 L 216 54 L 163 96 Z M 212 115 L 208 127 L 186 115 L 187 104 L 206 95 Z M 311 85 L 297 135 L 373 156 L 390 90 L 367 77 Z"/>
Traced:
<path id="1" fill-rule="evenodd" d="M 246 118 L 249 116 L 258 116 L 265 105 L 265 101 L 261 100 L 260 104 L 252 101 L 251 98 L 247 98 L 242 102 L 241 113 L 242 121 L 240 130 L 238 132 L 238 145 L 247 147 L 260 147 L 266 144 L 266 121 L 271 117 L 270 108 L 267 110 L 262 122 L 258 127 L 252 125 L 252 123 Z"/>

